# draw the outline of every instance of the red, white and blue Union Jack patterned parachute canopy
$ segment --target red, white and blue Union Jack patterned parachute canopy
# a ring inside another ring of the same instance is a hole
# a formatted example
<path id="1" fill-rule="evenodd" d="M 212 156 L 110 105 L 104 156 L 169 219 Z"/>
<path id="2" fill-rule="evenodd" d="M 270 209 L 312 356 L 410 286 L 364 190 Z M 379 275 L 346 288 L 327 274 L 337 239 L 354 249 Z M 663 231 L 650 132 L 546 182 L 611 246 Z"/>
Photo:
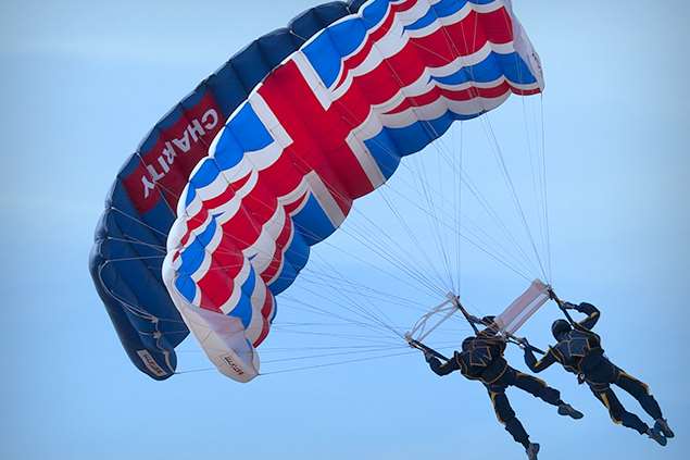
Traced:
<path id="1" fill-rule="evenodd" d="M 165 286 L 216 368 L 259 374 L 276 296 L 402 158 L 542 88 L 506 0 L 369 0 L 271 71 L 191 172 L 167 237 Z"/>

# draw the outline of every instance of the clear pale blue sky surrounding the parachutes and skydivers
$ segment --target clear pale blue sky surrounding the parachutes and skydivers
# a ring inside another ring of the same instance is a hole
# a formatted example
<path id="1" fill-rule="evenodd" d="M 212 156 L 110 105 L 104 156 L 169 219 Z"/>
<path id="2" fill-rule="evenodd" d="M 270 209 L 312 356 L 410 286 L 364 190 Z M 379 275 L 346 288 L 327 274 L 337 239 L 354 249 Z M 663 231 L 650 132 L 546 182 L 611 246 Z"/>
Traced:
<path id="1" fill-rule="evenodd" d="M 115 172 L 198 82 L 316 2 L 141 3 L 0 4 L 0 458 L 522 458 L 479 384 L 440 380 L 415 355 L 243 386 L 214 372 L 159 383 L 129 363 L 87 270 Z M 563 297 L 602 308 L 598 327 L 607 355 L 651 385 L 678 438 L 662 449 L 613 425 L 557 369 L 543 376 L 587 413 L 582 421 L 557 418 L 517 390 L 510 393 L 513 406 L 545 459 L 686 458 L 690 7 L 514 3 L 545 67 L 555 286 Z M 492 116 L 502 145 L 512 148 L 524 135 L 520 102 Z M 480 123 L 463 129 L 467 157 L 487 149 Z M 476 181 L 490 184 L 481 174 Z M 506 215 L 509 200 L 492 197 Z M 463 294 L 477 309 L 505 304 L 526 287 L 469 250 L 466 257 L 477 262 L 463 264 Z M 354 263 L 340 270 L 376 276 Z M 287 308 L 279 320 L 286 315 Z M 545 346 L 555 316 L 552 307 L 540 312 L 525 333 Z M 206 365 L 191 339 L 183 348 L 189 352 L 180 355 L 180 370 Z M 509 356 L 524 368 L 518 351 Z"/>

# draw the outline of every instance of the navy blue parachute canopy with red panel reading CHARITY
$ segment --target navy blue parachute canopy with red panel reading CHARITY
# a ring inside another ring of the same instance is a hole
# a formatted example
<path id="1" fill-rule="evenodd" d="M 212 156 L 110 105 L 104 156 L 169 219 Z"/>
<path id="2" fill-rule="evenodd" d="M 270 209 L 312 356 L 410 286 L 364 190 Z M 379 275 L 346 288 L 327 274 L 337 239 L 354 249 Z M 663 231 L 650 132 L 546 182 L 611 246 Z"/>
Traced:
<path id="1" fill-rule="evenodd" d="M 225 120 L 305 40 L 364 0 L 329 2 L 252 41 L 178 102 L 127 159 L 105 200 L 89 270 L 133 363 L 155 380 L 174 374 L 188 335 L 161 276 L 168 231 L 189 173 Z"/>

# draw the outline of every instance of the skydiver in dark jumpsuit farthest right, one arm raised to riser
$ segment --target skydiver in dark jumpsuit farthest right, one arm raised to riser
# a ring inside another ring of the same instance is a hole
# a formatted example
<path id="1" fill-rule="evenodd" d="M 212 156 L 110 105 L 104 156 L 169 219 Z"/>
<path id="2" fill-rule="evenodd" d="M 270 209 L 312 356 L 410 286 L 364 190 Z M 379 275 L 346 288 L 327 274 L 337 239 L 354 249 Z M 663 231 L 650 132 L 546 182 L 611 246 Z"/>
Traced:
<path id="1" fill-rule="evenodd" d="M 609 361 L 601 347 L 601 337 L 591 331 L 600 318 L 597 307 L 587 302 L 579 306 L 561 302 L 561 306 L 565 310 L 576 310 L 588 316 L 579 323 L 574 322 L 574 327 L 565 320 L 555 321 L 551 332 L 557 344 L 550 347 L 549 352 L 539 361 L 527 340 L 523 339 L 525 362 L 529 369 L 532 372 L 541 372 L 554 362 L 561 363 L 566 371 L 577 374 L 580 384 L 587 382 L 597 399 L 609 409 L 614 423 L 636 430 L 641 435 L 647 434 L 665 446 L 666 438 L 674 437 L 674 432 L 662 415 L 662 410 L 650 394 L 649 387 Z M 611 384 L 619 386 L 637 399 L 644 411 L 654 419 L 654 427 L 650 428 L 639 417 L 626 411 L 611 389 Z"/>

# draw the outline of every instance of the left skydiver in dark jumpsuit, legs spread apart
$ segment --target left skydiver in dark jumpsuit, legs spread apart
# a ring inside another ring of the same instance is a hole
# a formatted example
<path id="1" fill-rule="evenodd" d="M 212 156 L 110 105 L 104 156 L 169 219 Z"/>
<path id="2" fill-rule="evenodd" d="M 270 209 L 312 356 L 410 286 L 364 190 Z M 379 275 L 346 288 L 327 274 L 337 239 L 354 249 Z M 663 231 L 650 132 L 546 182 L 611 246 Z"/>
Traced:
<path id="1" fill-rule="evenodd" d="M 485 324 L 491 323 L 493 319 L 493 316 L 486 316 L 484 322 Z M 455 351 L 453 358 L 446 363 L 441 363 L 429 352 L 425 352 L 425 358 L 431 370 L 438 375 L 448 375 L 453 371 L 460 371 L 466 378 L 484 383 L 491 397 L 499 422 L 505 425 L 505 430 L 513 438 L 525 447 L 529 460 L 537 459 L 539 444 L 529 442 L 529 435 L 515 417 L 515 412 L 505 396 L 505 388 L 516 386 L 550 405 L 557 406 L 561 415 L 569 415 L 573 419 L 582 418 L 582 413 L 561 399 L 561 393 L 557 389 L 551 388 L 545 382 L 532 375 L 511 368 L 503 358 L 505 341 L 501 337 L 497 337 L 495 330 L 492 327 L 487 327 L 476 336 L 465 338 L 462 349 L 462 352 Z"/>

